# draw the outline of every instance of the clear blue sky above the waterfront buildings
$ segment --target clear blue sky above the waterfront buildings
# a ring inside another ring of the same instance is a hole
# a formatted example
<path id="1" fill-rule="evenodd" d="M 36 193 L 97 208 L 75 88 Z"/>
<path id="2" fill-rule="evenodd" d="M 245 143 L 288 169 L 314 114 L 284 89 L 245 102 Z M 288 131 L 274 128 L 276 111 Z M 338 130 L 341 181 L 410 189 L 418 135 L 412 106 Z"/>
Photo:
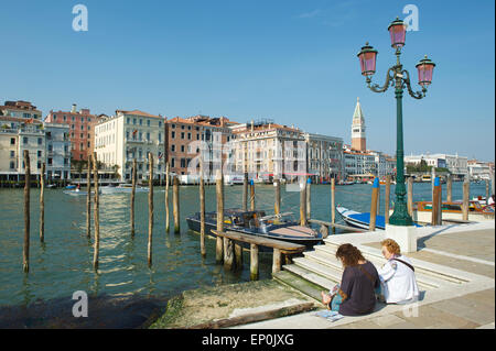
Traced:
<path id="1" fill-rule="evenodd" d="M 76 32 L 79 3 L 88 30 Z M 424 99 L 403 96 L 405 153 L 494 161 L 493 0 L 0 0 L 0 102 L 272 119 L 349 143 L 359 97 L 367 147 L 393 155 L 393 90 L 370 91 L 356 55 L 378 50 L 382 85 L 396 62 L 387 26 L 408 4 L 419 28 L 401 62 L 416 90 L 419 59 L 436 66 Z"/>

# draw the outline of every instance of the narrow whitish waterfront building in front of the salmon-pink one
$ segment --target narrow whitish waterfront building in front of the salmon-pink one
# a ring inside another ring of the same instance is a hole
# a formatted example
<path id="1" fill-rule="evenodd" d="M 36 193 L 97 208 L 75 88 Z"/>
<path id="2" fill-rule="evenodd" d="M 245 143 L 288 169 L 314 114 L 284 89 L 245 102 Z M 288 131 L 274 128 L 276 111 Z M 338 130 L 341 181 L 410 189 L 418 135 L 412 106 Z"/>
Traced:
<path id="1" fill-rule="evenodd" d="M 47 179 L 71 179 L 69 125 L 44 123 Z"/>

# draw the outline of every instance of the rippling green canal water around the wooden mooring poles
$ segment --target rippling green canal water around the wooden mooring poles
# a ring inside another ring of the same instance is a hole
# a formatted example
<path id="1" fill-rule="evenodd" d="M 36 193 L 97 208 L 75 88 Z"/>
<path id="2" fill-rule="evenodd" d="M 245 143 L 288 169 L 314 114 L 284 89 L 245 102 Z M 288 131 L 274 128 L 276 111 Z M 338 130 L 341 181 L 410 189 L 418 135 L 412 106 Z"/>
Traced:
<path id="1" fill-rule="evenodd" d="M 130 235 L 130 195 L 100 196 L 99 270 L 93 270 L 91 240 L 86 238 L 86 197 L 62 189 L 45 190 L 45 243 L 39 240 L 39 189 L 31 190 L 30 272 L 22 271 L 23 190 L 0 189 L 0 307 L 71 297 L 76 290 L 89 296 L 159 297 L 202 286 L 249 281 L 249 253 L 245 268 L 226 272 L 215 263 L 215 240 L 207 240 L 207 257 L 200 255 L 200 234 L 187 229 L 185 217 L 200 210 L 198 187 L 180 188 L 181 233 L 165 232 L 164 188 L 155 187 L 153 265 L 147 264 L 148 194 L 136 195 L 136 237 Z M 172 190 L 172 189 L 171 189 Z M 391 186 L 393 200 L 395 186 Z M 330 185 L 312 185 L 312 218 L 330 220 Z M 413 199 L 429 200 L 431 184 L 414 184 Z M 206 186 L 206 210 L 215 210 L 215 185 Z M 371 185 L 336 186 L 336 205 L 369 211 Z M 472 184 L 471 197 L 485 195 L 485 184 Z M 240 207 L 242 186 L 225 187 L 225 207 Z M 445 186 L 443 185 L 443 198 Z M 462 198 L 462 183 L 453 183 L 453 199 Z M 172 199 L 172 191 L 170 199 Z M 272 185 L 256 185 L 256 206 L 273 212 Z M 172 201 L 171 201 L 172 202 Z M 299 217 L 300 194 L 281 187 L 282 211 Z M 384 212 L 384 186 L 380 206 Z M 93 208 L 91 208 L 93 215 Z M 336 218 L 341 221 L 339 216 Z M 261 255 L 260 278 L 271 274 L 271 255 Z M 0 309 L 1 314 L 1 309 Z M 1 316 L 0 316 L 1 318 Z"/>

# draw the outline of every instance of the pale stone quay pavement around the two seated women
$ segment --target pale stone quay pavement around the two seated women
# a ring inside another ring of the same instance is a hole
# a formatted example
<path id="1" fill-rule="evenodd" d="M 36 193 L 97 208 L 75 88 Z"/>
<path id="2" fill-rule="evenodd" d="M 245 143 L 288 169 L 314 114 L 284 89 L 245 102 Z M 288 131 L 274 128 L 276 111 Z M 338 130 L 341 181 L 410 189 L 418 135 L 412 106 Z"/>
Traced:
<path id="1" fill-rule="evenodd" d="M 385 232 L 333 235 L 334 244 L 352 242 L 367 252 L 379 251 Z M 335 322 L 306 312 L 239 326 L 256 329 L 473 329 L 495 328 L 495 223 L 457 224 L 422 229 L 418 252 L 409 253 L 414 266 L 460 284 L 427 290 L 417 304 L 378 305 L 368 316 L 344 317 Z"/>

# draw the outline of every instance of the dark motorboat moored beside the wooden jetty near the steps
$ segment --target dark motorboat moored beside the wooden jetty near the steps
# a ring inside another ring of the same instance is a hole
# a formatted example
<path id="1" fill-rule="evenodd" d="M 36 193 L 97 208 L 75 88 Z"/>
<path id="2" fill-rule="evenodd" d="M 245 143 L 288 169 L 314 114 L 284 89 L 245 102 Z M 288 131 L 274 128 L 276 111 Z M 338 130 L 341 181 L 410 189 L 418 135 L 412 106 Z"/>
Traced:
<path id="1" fill-rule="evenodd" d="M 191 230 L 200 232 L 200 212 L 186 217 L 186 221 Z M 291 212 L 266 216 L 263 210 L 226 209 L 224 210 L 224 228 L 242 234 L 302 244 L 308 249 L 322 243 L 324 239 L 322 233 L 312 228 L 299 226 Z M 217 212 L 206 212 L 205 233 L 216 238 L 212 231 L 215 229 L 217 229 Z M 241 245 L 249 249 L 248 243 L 241 243 Z M 260 246 L 260 251 L 272 252 L 272 249 Z"/>

